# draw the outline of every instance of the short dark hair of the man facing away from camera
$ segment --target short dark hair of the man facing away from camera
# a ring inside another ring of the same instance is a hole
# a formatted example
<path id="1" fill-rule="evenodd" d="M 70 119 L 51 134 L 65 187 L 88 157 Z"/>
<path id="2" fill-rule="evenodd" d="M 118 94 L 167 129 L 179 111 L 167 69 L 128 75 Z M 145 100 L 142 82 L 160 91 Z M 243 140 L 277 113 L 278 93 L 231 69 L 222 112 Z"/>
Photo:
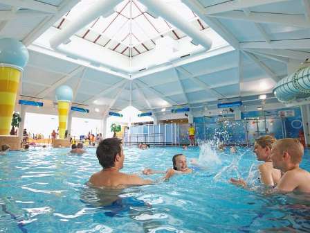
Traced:
<path id="1" fill-rule="evenodd" d="M 117 137 L 104 139 L 100 142 L 95 151 L 99 163 L 104 169 L 109 169 L 115 165 L 116 155 L 122 150 L 122 140 Z"/>

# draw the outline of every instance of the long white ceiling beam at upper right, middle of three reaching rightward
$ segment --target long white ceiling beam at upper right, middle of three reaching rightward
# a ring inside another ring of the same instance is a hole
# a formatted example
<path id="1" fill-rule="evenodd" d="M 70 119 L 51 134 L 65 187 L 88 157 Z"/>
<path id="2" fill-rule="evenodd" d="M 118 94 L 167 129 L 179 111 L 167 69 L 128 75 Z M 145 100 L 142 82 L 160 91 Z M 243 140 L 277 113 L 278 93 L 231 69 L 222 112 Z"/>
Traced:
<path id="1" fill-rule="evenodd" d="M 230 11 L 219 13 L 215 15 L 210 15 L 210 17 L 223 18 L 223 19 L 237 19 L 244 21 L 253 21 L 257 23 L 265 24 L 282 24 L 286 26 L 296 26 L 309 28 L 309 21 L 304 20 L 303 15 L 281 15 L 275 13 L 266 12 L 250 12 L 250 15 L 244 15 L 242 11 Z"/>

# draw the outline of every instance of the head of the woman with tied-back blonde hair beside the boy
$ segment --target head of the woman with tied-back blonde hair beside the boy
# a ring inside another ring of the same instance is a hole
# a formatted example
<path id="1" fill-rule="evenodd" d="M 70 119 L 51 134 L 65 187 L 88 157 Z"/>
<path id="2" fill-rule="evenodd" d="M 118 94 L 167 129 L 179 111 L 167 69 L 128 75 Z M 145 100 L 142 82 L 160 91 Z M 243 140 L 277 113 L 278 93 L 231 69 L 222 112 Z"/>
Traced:
<path id="1" fill-rule="evenodd" d="M 259 161 L 269 161 L 271 159 L 271 147 L 277 141 L 271 135 L 265 135 L 255 139 L 254 153 Z"/>

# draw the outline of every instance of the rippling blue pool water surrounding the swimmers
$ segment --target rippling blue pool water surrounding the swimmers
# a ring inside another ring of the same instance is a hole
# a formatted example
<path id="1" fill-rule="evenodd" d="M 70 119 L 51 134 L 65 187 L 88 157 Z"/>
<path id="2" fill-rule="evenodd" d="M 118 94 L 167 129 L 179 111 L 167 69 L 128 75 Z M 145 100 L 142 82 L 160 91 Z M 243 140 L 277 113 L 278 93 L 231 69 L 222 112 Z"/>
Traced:
<path id="1" fill-rule="evenodd" d="M 310 232 L 310 198 L 266 196 L 257 188 L 257 164 L 250 149 L 226 149 L 206 169 L 176 175 L 167 182 L 124 190 L 86 185 L 101 169 L 95 148 L 84 155 L 68 149 L 33 148 L 0 156 L 0 232 Z M 188 161 L 199 148 L 125 148 L 122 171 L 142 175 L 145 168 L 172 167 L 172 156 Z M 309 150 L 302 168 L 310 170 Z M 230 177 L 253 183 L 235 187 Z M 108 200 L 108 202 L 107 202 Z M 102 206 L 105 203 L 104 206 Z"/>

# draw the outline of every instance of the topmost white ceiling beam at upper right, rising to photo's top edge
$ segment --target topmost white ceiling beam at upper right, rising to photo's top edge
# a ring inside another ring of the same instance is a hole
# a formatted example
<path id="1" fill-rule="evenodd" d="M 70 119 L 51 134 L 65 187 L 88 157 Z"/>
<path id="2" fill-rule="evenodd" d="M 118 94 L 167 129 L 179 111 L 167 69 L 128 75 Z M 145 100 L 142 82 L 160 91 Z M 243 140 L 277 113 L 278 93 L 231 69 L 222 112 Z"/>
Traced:
<path id="1" fill-rule="evenodd" d="M 252 8 L 255 6 L 262 6 L 270 3 L 277 3 L 288 0 L 239 0 L 239 1 L 226 1 L 214 6 L 206 8 L 205 14 L 212 15 L 221 12 L 228 12 L 231 10 L 240 10 L 244 8 Z"/>

